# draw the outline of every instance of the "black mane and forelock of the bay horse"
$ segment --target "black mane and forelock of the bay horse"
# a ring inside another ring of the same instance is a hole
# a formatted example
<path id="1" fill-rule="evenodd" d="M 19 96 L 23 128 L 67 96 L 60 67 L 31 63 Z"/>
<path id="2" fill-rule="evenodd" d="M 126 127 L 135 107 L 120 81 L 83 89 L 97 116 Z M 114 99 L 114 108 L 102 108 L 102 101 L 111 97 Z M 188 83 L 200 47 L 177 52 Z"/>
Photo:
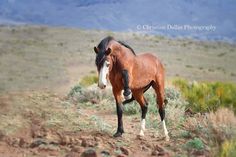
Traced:
<path id="1" fill-rule="evenodd" d="M 100 69 L 100 66 L 101 66 L 101 64 L 103 62 L 103 59 L 104 59 L 104 55 L 105 55 L 107 45 L 109 44 L 109 42 L 111 40 L 115 40 L 115 39 L 111 36 L 108 36 L 108 37 L 104 38 L 97 46 L 98 49 L 99 49 L 99 52 L 97 53 L 95 63 L 97 65 L 98 69 Z M 125 46 L 126 48 L 130 49 L 130 51 L 134 55 L 136 55 L 134 50 L 129 45 L 127 45 L 125 42 L 123 42 L 123 41 L 117 41 L 117 42 L 120 43 L 121 45 Z"/>

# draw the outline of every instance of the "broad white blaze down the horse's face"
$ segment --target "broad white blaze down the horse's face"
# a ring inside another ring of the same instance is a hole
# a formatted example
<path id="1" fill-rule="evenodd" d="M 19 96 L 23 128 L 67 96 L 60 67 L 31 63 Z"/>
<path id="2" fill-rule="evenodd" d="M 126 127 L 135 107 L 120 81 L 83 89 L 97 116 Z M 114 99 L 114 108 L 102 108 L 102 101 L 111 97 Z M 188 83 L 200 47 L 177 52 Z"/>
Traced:
<path id="1" fill-rule="evenodd" d="M 109 65 L 110 63 L 108 61 L 105 61 L 99 72 L 98 86 L 102 89 L 105 88 L 107 85 L 107 74 L 109 72 Z"/>

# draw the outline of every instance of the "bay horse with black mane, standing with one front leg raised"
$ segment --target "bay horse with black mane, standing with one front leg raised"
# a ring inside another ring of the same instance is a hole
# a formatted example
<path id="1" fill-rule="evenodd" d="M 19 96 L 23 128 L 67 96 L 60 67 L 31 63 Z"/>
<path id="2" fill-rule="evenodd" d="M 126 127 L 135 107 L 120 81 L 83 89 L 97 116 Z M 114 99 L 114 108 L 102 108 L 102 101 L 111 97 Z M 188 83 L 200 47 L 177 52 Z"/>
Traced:
<path id="1" fill-rule="evenodd" d="M 148 109 L 148 102 L 144 98 L 144 92 L 152 87 L 156 93 L 157 107 L 161 117 L 165 138 L 168 141 L 168 131 L 165 124 L 165 103 L 164 103 L 164 66 L 160 60 L 151 53 L 136 55 L 133 49 L 127 44 L 116 41 L 113 37 L 104 38 L 97 47 L 96 66 L 99 74 L 98 86 L 104 89 L 109 78 L 112 85 L 112 92 L 116 101 L 116 112 L 118 117 L 118 128 L 114 137 L 122 136 L 123 127 L 123 104 L 136 100 L 141 107 L 141 130 L 139 135 L 144 136 L 145 118 Z M 129 76 L 129 88 L 132 91 L 132 98 L 122 102 L 122 90 L 124 79 L 122 71 L 126 69 Z"/>

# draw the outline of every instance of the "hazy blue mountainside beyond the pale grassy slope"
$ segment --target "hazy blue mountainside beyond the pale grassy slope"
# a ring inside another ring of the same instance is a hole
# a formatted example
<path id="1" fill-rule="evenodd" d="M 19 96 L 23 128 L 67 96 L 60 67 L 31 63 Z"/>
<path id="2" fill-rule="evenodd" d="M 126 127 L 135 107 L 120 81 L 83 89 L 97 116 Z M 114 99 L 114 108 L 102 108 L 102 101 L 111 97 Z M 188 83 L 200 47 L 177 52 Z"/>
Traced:
<path id="1" fill-rule="evenodd" d="M 234 0 L 1 0 L 0 24 L 41 24 L 172 37 L 236 40 Z M 148 25 L 152 28 L 138 29 Z M 167 25 L 214 26 L 214 30 L 162 29 Z"/>

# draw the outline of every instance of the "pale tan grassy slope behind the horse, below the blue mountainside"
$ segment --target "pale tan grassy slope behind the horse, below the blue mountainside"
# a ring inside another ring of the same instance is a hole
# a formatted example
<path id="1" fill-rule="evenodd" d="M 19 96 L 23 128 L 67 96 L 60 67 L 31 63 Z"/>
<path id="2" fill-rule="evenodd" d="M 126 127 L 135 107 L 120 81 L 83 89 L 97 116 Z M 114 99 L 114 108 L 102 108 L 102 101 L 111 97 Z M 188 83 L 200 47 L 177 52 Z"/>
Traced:
<path id="1" fill-rule="evenodd" d="M 155 53 L 166 66 L 167 78 L 236 80 L 235 45 L 42 26 L 1 27 L 0 92 L 68 91 L 81 76 L 96 70 L 92 48 L 107 35 L 127 41 L 136 52 Z"/>

